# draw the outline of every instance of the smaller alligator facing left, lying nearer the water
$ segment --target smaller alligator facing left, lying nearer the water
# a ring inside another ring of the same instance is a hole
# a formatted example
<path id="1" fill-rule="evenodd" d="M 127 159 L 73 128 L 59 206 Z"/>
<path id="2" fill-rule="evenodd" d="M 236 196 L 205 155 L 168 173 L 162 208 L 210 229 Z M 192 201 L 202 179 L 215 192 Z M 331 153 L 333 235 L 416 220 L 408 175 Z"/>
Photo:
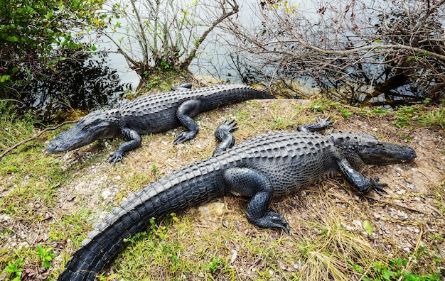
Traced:
<path id="1" fill-rule="evenodd" d="M 221 84 L 191 89 L 182 84 L 171 92 L 145 95 L 127 104 L 106 111 L 93 111 L 80 119 L 75 126 L 61 133 L 46 146 L 48 153 L 74 150 L 102 138 L 126 138 L 127 142 L 111 153 L 109 162 L 122 162 L 130 150 L 141 145 L 141 135 L 159 133 L 185 127 L 173 144 L 191 140 L 198 133 L 193 116 L 227 104 L 247 99 L 274 99 L 267 92 L 240 84 Z"/>

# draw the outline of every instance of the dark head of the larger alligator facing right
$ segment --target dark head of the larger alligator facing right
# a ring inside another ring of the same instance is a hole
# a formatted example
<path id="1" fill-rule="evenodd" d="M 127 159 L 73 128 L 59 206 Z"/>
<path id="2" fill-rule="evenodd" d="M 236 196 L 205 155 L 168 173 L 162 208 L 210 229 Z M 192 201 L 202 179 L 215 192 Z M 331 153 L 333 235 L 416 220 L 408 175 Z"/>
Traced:
<path id="1" fill-rule="evenodd" d="M 333 141 L 367 165 L 386 165 L 413 160 L 415 151 L 407 145 L 385 143 L 364 133 L 333 133 Z M 346 156 L 348 158 L 348 156 Z"/>

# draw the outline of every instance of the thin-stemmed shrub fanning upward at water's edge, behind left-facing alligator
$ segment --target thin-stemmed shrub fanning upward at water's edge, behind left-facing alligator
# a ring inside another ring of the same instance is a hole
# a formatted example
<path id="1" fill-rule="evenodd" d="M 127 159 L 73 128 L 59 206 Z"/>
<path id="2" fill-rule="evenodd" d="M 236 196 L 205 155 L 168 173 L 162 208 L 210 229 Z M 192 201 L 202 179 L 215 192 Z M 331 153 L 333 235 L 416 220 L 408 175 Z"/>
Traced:
<path id="1" fill-rule="evenodd" d="M 236 0 L 193 4 L 174 0 L 122 1 L 105 13 L 109 26 L 103 32 L 139 75 L 156 70 L 187 70 L 208 35 L 238 9 Z"/>

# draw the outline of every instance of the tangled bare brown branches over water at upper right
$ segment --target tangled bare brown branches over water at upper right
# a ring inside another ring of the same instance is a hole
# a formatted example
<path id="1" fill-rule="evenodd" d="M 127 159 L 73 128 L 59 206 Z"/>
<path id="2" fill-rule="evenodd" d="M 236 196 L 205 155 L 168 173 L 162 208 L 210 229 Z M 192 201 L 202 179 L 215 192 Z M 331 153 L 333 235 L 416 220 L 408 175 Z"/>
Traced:
<path id="1" fill-rule="evenodd" d="M 353 105 L 444 97 L 444 0 L 262 1 L 252 11 L 253 24 L 226 26 L 233 70 L 246 83 L 277 84 L 288 97 L 320 89 Z"/>

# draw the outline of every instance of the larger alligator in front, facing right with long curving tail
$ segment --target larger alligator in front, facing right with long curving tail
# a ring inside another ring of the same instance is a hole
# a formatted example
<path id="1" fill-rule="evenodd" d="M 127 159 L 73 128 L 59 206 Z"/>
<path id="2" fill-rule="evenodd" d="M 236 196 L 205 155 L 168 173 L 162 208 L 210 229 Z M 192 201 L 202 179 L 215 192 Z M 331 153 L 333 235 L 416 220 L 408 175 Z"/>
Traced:
<path id="1" fill-rule="evenodd" d="M 82 242 L 58 280 L 94 280 L 124 247 L 125 239 L 151 224 L 151 219 L 210 202 L 226 194 L 250 197 L 247 221 L 260 228 L 289 233 L 282 214 L 269 209 L 274 197 L 297 192 L 325 177 L 343 175 L 358 191 L 382 194 L 387 184 L 358 172 L 364 165 L 391 164 L 416 158 L 409 146 L 385 143 L 364 133 L 313 131 L 331 126 L 321 119 L 299 131 L 276 131 L 233 145 L 236 122 L 225 121 L 215 132 L 220 140 L 213 156 L 196 161 L 151 182 L 112 209 Z"/>

